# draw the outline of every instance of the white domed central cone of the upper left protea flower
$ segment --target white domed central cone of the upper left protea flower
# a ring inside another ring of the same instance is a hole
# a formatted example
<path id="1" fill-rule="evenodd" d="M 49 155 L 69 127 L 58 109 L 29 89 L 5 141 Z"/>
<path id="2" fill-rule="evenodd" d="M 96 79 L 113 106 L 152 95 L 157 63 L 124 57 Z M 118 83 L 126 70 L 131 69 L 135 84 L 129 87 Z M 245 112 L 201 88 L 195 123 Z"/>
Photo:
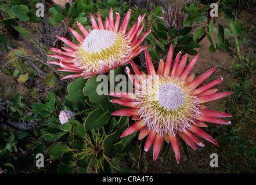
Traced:
<path id="1" fill-rule="evenodd" d="M 116 38 L 117 36 L 111 31 L 93 29 L 84 39 L 82 47 L 89 54 L 100 53 L 100 51 L 113 46 Z"/>

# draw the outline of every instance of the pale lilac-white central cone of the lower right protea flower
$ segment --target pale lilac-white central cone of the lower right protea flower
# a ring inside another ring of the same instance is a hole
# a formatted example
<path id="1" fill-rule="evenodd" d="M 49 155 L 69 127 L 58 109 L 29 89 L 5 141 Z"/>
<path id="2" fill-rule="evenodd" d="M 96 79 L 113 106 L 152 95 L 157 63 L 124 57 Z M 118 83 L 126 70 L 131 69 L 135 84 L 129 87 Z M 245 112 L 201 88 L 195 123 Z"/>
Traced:
<path id="1" fill-rule="evenodd" d="M 173 83 L 165 83 L 159 87 L 157 100 L 160 107 L 169 110 L 177 110 L 185 102 L 185 94 L 179 86 Z"/>

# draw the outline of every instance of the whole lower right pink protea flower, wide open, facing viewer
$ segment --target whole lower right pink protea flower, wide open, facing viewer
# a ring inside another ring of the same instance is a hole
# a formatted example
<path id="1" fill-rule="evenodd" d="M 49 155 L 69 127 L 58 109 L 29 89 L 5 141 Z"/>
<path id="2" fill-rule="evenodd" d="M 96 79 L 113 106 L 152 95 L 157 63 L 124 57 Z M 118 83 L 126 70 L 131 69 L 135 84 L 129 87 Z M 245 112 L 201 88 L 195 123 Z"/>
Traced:
<path id="1" fill-rule="evenodd" d="M 203 121 L 230 124 L 230 121 L 217 118 L 231 117 L 230 114 L 208 110 L 203 105 L 203 103 L 232 94 L 232 92 L 215 93 L 218 89 L 211 88 L 221 83 L 222 78 L 200 86 L 217 67 L 193 79 L 194 75 L 189 75 L 189 73 L 192 71 L 199 54 L 185 68 L 188 54 L 185 54 L 179 61 L 181 57 L 181 52 L 179 52 L 172 66 L 173 47 L 171 46 L 165 64 L 163 60 L 160 60 L 157 72 L 147 50 L 145 50 L 145 55 L 148 75 L 140 72 L 132 61 L 130 64 L 135 76 L 132 75 L 128 67 L 126 68 L 128 76 L 134 83 L 135 92 L 133 94 L 110 93 L 114 97 L 121 98 L 113 99 L 111 102 L 130 107 L 129 109 L 117 110 L 112 113 L 113 115 L 133 116 L 134 120 L 138 120 L 128 127 L 121 137 L 130 135 L 139 129 L 139 139 L 149 135 L 145 143 L 145 151 L 149 151 L 154 142 L 154 160 L 156 160 L 163 139 L 165 139 L 168 143 L 171 142 L 178 163 L 178 136 L 194 150 L 196 150 L 195 143 L 199 146 L 204 146 L 204 144 L 193 134 L 199 135 L 218 146 L 218 143 L 210 135 L 199 128 L 207 127 Z"/>

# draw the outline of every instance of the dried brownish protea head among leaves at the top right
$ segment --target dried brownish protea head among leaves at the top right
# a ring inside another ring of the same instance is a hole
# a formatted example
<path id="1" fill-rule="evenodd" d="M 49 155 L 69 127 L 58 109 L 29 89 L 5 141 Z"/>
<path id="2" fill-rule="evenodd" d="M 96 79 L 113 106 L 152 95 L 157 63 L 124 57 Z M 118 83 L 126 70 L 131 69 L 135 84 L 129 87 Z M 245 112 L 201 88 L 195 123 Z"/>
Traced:
<path id="1" fill-rule="evenodd" d="M 170 5 L 168 11 L 165 12 L 163 10 L 163 17 L 159 17 L 164 20 L 165 27 L 175 27 L 178 31 L 183 28 L 183 21 L 185 20 L 187 14 L 181 11 L 179 6 L 175 6 L 174 4 Z"/>

